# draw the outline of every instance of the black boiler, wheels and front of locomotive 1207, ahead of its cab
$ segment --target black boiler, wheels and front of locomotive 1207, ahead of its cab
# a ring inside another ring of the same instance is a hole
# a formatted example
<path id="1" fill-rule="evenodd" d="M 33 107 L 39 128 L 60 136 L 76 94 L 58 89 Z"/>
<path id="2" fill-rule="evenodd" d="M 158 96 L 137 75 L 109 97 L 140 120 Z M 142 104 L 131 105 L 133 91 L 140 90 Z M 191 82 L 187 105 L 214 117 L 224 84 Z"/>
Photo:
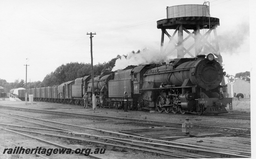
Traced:
<path id="1" fill-rule="evenodd" d="M 214 60 L 213 54 L 199 55 L 196 58 L 174 59 L 148 69 L 142 81 L 140 102 L 150 110 L 182 114 L 186 112 L 224 113 L 232 98 L 224 98 L 225 86 L 223 69 Z"/>

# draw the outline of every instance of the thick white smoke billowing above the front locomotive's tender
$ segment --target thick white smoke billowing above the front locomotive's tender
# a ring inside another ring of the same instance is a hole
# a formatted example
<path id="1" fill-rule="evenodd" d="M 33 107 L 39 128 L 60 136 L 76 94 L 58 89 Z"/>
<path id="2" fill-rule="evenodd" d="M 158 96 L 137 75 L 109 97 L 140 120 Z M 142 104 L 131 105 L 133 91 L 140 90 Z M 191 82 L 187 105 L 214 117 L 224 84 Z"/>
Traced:
<path id="1" fill-rule="evenodd" d="M 169 62 L 166 54 L 160 54 L 160 50 L 156 49 L 143 49 L 140 53 L 129 53 L 127 57 L 124 55 L 121 56 L 121 59 L 116 60 L 115 67 L 112 71 L 116 71 L 119 69 L 124 69 L 129 65 L 144 65 L 144 64 L 153 64 L 153 63 L 162 63 Z"/>

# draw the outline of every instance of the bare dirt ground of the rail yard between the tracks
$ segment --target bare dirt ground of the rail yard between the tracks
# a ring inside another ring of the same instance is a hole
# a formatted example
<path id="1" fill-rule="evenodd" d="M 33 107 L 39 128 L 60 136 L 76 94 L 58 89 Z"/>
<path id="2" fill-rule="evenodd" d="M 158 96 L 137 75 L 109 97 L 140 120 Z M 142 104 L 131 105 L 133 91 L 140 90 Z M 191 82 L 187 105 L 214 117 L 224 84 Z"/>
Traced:
<path id="1" fill-rule="evenodd" d="M 251 122 L 248 122 L 248 120 L 243 120 L 243 119 L 238 119 L 238 120 L 230 120 L 226 118 L 209 118 L 209 117 L 202 117 L 198 115 L 180 115 L 180 114 L 173 114 L 173 113 L 159 113 L 156 111 L 150 111 L 150 112 L 142 112 L 142 111 L 129 111 L 129 112 L 124 112 L 123 110 L 117 110 L 117 109 L 108 109 L 108 108 L 97 108 L 97 110 L 92 110 L 90 107 L 89 109 L 84 109 L 83 106 L 79 105 L 67 105 L 67 104 L 59 104 L 59 103 L 47 103 L 47 102 L 38 102 L 34 101 L 33 105 L 26 105 L 25 102 L 18 102 L 18 101 L 0 101 L 0 105 L 3 106 L 13 106 L 13 107 L 22 107 L 22 108 L 33 108 L 33 109 L 44 109 L 44 110 L 56 110 L 56 111 L 63 111 L 63 112 L 75 112 L 75 113 L 85 113 L 85 114 L 94 114 L 94 115 L 100 115 L 100 116 L 116 116 L 116 117 L 124 117 L 124 118 L 134 118 L 134 119 L 146 119 L 146 120 L 156 120 L 156 121 L 165 121 L 165 122 L 175 122 L 175 123 L 184 123 L 186 118 L 189 118 L 190 121 L 194 124 L 197 125 L 210 125 L 210 126 L 219 126 L 219 127 L 236 127 L 236 128 L 243 128 L 243 129 L 250 129 L 251 128 Z M 237 102 L 238 103 L 238 102 Z M 250 101 L 249 101 L 250 103 Z M 237 105 L 248 105 L 248 101 L 243 101 Z M 235 108 L 233 105 L 233 108 Z M 250 111 L 246 110 L 229 110 L 228 114 L 230 115 L 241 115 L 241 116 L 250 116 Z M 97 121 L 97 120 L 91 120 L 91 119 L 78 119 L 78 118 L 72 118 L 72 117 L 59 117 L 59 116 L 53 116 L 51 114 L 42 114 L 42 113 L 35 113 L 35 112 L 25 112 L 25 111 L 14 111 L 14 110 L 7 110 L 7 109 L 2 109 L 0 108 L 0 112 L 9 112 L 13 114 L 22 114 L 25 116 L 32 116 L 35 118 L 41 118 L 41 119 L 48 119 L 52 121 L 58 121 L 58 122 L 63 122 L 63 123 L 69 123 L 69 124 L 76 124 L 79 126 L 88 126 L 88 127 L 93 127 L 93 128 L 99 128 L 103 130 L 110 130 L 110 131 L 121 131 L 121 130 L 132 130 L 132 129 L 142 129 L 142 128 L 147 128 L 149 126 L 137 126 L 137 125 L 131 125 L 131 124 L 109 124 L 109 123 L 104 123 L 102 121 Z M 2 113 L 0 113 L 2 114 Z M 6 115 L 6 114 L 3 114 Z M 17 116 L 13 116 L 16 118 L 20 118 Z M 25 120 L 28 120 L 27 118 L 22 118 Z M 41 123 L 40 121 L 35 121 L 38 123 Z M 18 120 L 15 119 L 10 119 L 7 117 L 0 116 L 0 123 L 9 123 L 9 124 L 14 124 L 14 125 L 24 125 L 24 126 L 34 126 L 38 127 L 35 124 L 28 124 L 26 122 L 18 122 Z M 42 122 L 44 123 L 44 122 Z M 52 125 L 54 126 L 55 124 L 49 124 L 49 123 L 44 123 L 47 125 Z M 0 125 L 1 126 L 1 125 Z M 56 125 L 57 126 L 57 125 Z M 60 127 L 60 125 L 58 125 Z M 62 126 L 62 128 L 65 129 L 72 129 L 71 127 L 68 126 Z M 84 130 L 83 128 L 73 128 L 72 130 L 78 131 L 78 132 L 84 132 L 84 133 L 91 133 L 91 134 L 97 134 L 94 131 L 90 130 Z M 35 130 L 36 131 L 36 130 Z M 49 133 L 49 132 L 48 132 Z M 254 132 L 252 132 L 254 134 Z M 58 133 L 57 133 L 58 134 Z M 31 134 L 32 135 L 32 134 Z M 99 133 L 100 135 L 100 133 Z M 253 136 L 253 135 L 252 135 Z M 42 135 L 38 135 L 38 137 L 42 138 Z M 53 140 L 52 138 L 49 137 L 44 137 L 45 140 Z M 56 148 L 54 146 L 50 146 L 46 143 L 42 143 L 40 141 L 32 140 L 28 137 L 17 135 L 14 133 L 8 133 L 6 131 L 0 130 L 0 159 L 1 158 L 35 158 L 35 155 L 33 154 L 24 154 L 24 155 L 18 155 L 18 154 L 12 154 L 12 155 L 7 155 L 3 154 L 4 148 L 14 148 L 15 145 L 12 144 L 15 143 L 17 145 L 23 146 L 25 148 L 36 148 L 37 146 L 40 145 L 40 147 L 44 148 Z M 56 143 L 63 143 L 61 142 L 60 139 L 54 139 Z M 81 148 L 81 144 L 77 143 L 70 143 L 66 142 L 65 143 L 67 146 L 72 146 L 76 148 Z M 96 148 L 94 145 L 85 145 L 90 148 Z M 44 155 L 45 156 L 45 155 Z M 47 158 L 71 158 L 71 157 L 76 157 L 76 158 L 90 158 L 88 156 L 80 156 L 80 155 L 51 155 L 51 156 L 46 156 Z M 152 156 L 152 155 L 147 155 L 147 154 L 138 154 L 138 153 L 133 153 L 133 152 L 120 152 L 119 150 L 107 150 L 104 155 L 101 155 L 103 158 L 161 158 L 159 156 Z"/>

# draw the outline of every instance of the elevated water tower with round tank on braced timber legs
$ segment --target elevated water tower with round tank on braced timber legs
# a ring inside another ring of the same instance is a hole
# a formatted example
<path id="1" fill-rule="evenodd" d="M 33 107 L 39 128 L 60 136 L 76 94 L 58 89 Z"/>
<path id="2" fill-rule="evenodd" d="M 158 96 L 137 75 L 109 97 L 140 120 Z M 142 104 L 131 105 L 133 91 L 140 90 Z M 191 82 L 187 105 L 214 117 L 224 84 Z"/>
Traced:
<path id="1" fill-rule="evenodd" d="M 222 65 L 216 32 L 220 20 L 210 16 L 209 5 L 205 2 L 203 5 L 188 4 L 166 8 L 167 18 L 157 21 L 157 28 L 162 30 L 162 54 L 177 53 L 177 58 L 184 58 L 184 56 L 196 57 L 198 54 L 212 53 Z M 172 35 L 167 29 L 174 30 Z M 214 36 L 211 37 L 212 31 Z M 166 46 L 164 46 L 164 35 L 169 38 Z"/>

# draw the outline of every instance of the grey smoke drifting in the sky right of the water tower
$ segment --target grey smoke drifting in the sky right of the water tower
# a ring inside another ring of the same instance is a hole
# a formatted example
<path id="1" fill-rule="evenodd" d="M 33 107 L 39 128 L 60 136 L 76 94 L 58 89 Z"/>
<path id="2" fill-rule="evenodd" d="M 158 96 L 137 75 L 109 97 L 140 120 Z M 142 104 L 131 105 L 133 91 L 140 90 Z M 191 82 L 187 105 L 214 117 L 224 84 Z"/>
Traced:
<path id="1" fill-rule="evenodd" d="M 243 22 L 232 27 L 231 30 L 218 35 L 220 52 L 233 54 L 239 49 L 250 36 L 249 22 Z M 235 28 L 235 29 L 233 29 Z"/>

